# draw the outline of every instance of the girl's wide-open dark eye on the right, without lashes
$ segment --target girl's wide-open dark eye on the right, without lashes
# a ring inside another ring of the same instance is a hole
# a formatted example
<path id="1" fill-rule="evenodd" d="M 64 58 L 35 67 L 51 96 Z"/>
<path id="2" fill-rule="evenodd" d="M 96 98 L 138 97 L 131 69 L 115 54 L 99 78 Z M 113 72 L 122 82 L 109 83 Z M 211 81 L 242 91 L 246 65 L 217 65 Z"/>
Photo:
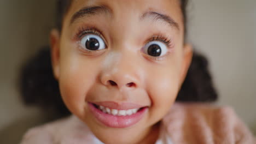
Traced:
<path id="1" fill-rule="evenodd" d="M 143 52 L 149 56 L 160 57 L 167 53 L 167 46 L 161 41 L 151 41 L 143 47 Z"/>

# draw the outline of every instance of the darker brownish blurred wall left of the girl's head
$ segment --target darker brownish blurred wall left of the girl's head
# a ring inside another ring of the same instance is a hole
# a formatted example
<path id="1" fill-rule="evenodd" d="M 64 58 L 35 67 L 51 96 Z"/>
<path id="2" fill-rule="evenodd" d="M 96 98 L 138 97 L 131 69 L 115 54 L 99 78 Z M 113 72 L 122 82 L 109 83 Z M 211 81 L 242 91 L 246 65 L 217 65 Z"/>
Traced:
<path id="1" fill-rule="evenodd" d="M 48 43 L 53 3 L 53 0 L 0 1 L 0 130 L 15 119 L 37 112 L 21 104 L 16 79 L 22 62 Z"/>

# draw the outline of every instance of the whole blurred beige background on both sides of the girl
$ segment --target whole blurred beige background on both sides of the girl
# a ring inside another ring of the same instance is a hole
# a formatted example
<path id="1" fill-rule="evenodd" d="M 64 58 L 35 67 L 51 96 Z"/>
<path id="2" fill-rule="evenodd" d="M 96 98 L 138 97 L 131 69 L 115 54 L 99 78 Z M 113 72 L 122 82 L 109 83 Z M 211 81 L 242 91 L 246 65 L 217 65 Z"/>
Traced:
<path id="1" fill-rule="evenodd" d="M 210 61 L 219 105 L 234 107 L 256 135 L 256 1 L 191 0 L 188 41 Z M 47 121 L 22 105 L 17 78 L 24 61 L 48 44 L 55 1 L 0 1 L 0 143 L 18 143 Z"/>

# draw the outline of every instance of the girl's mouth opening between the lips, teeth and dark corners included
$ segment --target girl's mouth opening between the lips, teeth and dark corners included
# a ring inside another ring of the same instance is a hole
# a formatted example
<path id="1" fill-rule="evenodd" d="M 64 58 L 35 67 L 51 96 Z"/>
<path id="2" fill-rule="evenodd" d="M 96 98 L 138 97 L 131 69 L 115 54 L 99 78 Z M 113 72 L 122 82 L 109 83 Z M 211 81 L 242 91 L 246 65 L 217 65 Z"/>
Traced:
<path id="1" fill-rule="evenodd" d="M 108 115 L 113 115 L 113 116 L 131 116 L 139 111 L 141 111 L 144 107 L 141 107 L 139 109 L 127 109 L 127 110 L 117 110 L 117 109 L 110 109 L 109 107 L 104 107 L 101 105 L 96 105 L 93 104 L 96 109 L 107 113 Z"/>

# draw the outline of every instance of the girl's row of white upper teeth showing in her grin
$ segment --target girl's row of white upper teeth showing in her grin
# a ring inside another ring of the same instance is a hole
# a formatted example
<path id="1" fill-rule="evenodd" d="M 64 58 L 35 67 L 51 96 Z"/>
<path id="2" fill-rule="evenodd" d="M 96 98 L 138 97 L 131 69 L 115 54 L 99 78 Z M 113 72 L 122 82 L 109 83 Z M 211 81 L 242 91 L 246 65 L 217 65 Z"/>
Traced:
<path id="1" fill-rule="evenodd" d="M 108 113 L 109 115 L 114 116 L 130 116 L 133 113 L 136 113 L 139 109 L 129 109 L 129 110 L 116 110 L 116 109 L 109 109 L 108 107 L 99 106 L 100 110 L 104 113 Z"/>

